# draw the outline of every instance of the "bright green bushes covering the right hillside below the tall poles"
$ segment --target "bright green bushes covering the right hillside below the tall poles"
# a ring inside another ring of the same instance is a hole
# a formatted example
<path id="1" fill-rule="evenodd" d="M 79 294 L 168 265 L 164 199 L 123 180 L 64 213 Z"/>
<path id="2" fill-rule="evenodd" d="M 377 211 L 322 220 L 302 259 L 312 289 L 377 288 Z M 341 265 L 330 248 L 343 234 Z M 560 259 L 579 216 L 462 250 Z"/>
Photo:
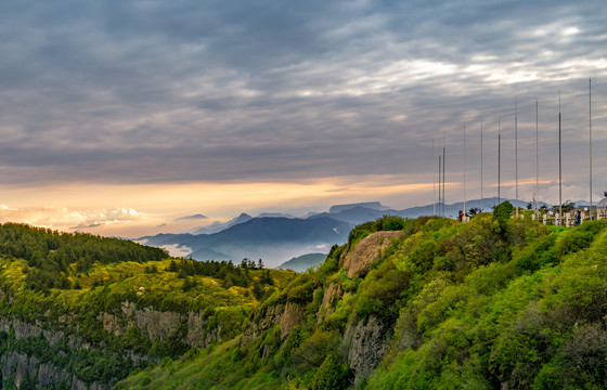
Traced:
<path id="1" fill-rule="evenodd" d="M 396 328 L 404 334 L 416 317 L 425 342 L 395 346 L 400 352 L 370 387 L 604 388 L 607 233 L 602 222 L 582 226 L 530 232 L 539 238 L 519 244 L 512 261 L 480 266 L 463 283 L 434 280 Z"/>

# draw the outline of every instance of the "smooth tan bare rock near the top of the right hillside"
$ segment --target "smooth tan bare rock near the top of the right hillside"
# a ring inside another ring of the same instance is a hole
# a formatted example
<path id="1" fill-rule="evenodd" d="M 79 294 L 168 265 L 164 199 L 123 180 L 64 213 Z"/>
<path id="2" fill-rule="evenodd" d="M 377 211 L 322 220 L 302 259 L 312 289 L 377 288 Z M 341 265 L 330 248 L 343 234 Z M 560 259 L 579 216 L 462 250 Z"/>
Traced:
<path id="1" fill-rule="evenodd" d="M 340 266 L 348 269 L 348 277 L 364 277 L 371 264 L 384 257 L 384 250 L 392 239 L 402 236 L 402 232 L 377 232 L 361 239 L 353 249 L 346 252 L 340 259 Z"/>

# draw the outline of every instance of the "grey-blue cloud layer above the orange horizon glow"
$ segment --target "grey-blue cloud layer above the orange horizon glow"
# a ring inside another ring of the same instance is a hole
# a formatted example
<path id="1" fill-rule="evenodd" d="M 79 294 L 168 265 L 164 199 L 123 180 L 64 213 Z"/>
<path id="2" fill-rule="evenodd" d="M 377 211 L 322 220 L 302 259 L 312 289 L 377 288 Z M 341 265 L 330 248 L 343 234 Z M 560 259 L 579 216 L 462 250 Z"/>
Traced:
<path id="1" fill-rule="evenodd" d="M 606 14 L 596 1 L 4 1 L 0 180 L 406 177 L 432 169 L 443 134 L 457 161 L 481 114 L 488 156 L 498 120 L 512 144 L 515 96 L 521 164 L 538 99 L 554 176 L 558 91 L 573 177 L 590 77 L 607 141 Z"/>

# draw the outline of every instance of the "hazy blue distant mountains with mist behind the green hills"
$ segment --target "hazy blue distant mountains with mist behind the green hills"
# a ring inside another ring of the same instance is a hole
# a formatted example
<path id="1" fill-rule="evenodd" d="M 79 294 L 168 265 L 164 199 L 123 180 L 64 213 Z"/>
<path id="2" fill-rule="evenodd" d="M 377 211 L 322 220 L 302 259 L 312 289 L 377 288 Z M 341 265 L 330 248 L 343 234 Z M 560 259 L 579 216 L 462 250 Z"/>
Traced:
<path id="1" fill-rule="evenodd" d="M 506 199 L 501 199 L 506 200 Z M 508 199 L 513 205 L 515 200 Z M 482 199 L 485 211 L 498 205 L 496 197 Z M 519 200 L 518 207 L 526 208 Z M 276 266 L 288 259 L 306 253 L 326 251 L 334 244 L 343 244 L 348 232 L 358 224 L 374 221 L 384 216 L 417 218 L 440 214 L 442 205 L 426 205 L 396 210 L 379 202 L 335 205 L 327 212 L 310 213 L 306 218 L 267 212 L 259 217 L 241 213 L 224 222 L 199 227 L 193 234 L 157 234 L 137 239 L 145 245 L 175 249 L 178 256 L 188 253 L 196 260 L 262 259 L 269 266 Z M 480 199 L 466 202 L 466 209 L 480 208 Z M 515 205 L 516 206 L 516 205 Z M 444 216 L 456 218 L 464 203 L 444 205 Z"/>

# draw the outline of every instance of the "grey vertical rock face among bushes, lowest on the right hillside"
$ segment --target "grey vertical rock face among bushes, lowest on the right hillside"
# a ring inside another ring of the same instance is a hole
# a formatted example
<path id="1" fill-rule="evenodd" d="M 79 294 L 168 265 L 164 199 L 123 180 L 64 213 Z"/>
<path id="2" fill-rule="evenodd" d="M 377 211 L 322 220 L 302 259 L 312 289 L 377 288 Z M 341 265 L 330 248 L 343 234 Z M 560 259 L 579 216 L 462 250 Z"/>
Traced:
<path id="1" fill-rule="evenodd" d="M 348 362 L 354 372 L 354 381 L 366 377 L 377 366 L 386 353 L 387 329 L 375 318 L 366 324 L 362 321 L 356 327 L 348 327 L 344 341 L 349 342 Z"/>

